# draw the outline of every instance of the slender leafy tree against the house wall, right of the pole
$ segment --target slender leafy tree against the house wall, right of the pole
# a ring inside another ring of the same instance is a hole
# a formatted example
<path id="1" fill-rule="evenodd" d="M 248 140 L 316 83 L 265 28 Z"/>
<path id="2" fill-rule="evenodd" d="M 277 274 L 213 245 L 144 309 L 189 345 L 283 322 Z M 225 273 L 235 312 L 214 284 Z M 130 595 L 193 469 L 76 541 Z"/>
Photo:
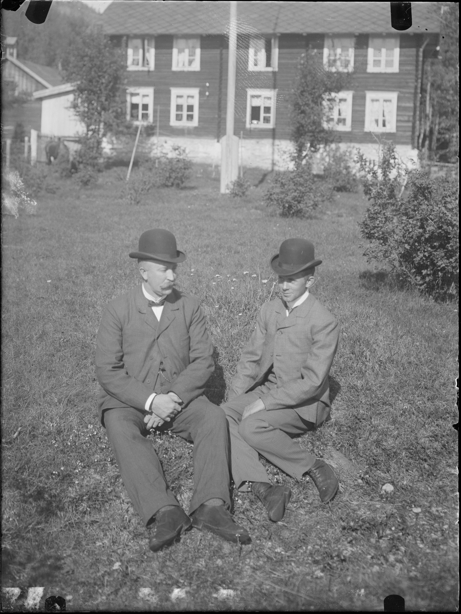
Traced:
<path id="1" fill-rule="evenodd" d="M 329 121 L 335 104 L 332 94 L 346 89 L 350 82 L 349 72 L 325 70 L 316 51 L 309 49 L 301 56 L 291 112 L 292 141 L 298 163 L 309 153 L 335 141 L 334 126 Z"/>

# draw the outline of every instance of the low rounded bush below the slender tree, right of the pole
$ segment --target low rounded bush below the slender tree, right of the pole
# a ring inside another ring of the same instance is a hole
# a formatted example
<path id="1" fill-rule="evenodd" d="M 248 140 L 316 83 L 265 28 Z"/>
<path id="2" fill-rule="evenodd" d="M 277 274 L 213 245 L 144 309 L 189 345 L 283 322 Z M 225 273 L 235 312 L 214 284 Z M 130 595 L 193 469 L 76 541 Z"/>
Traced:
<path id="1" fill-rule="evenodd" d="M 311 161 L 295 163 L 292 171 L 276 171 L 263 200 L 282 217 L 311 217 L 329 198 L 328 187 L 316 180 Z"/>

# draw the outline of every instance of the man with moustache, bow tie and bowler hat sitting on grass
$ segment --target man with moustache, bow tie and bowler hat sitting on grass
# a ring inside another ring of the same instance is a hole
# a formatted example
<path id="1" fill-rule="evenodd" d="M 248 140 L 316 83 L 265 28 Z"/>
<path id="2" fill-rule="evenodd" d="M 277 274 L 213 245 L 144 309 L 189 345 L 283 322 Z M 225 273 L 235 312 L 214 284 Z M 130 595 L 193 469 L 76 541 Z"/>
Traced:
<path id="1" fill-rule="evenodd" d="M 212 344 L 200 305 L 174 289 L 177 263 L 185 260 L 168 230 L 139 239 L 142 284 L 107 305 L 98 332 L 96 375 L 99 412 L 123 484 L 157 551 L 191 525 L 231 541 L 249 543 L 228 511 L 228 430 L 222 409 L 203 396 L 214 370 Z M 169 429 L 194 443 L 194 491 L 189 514 L 165 481 L 152 428 Z"/>

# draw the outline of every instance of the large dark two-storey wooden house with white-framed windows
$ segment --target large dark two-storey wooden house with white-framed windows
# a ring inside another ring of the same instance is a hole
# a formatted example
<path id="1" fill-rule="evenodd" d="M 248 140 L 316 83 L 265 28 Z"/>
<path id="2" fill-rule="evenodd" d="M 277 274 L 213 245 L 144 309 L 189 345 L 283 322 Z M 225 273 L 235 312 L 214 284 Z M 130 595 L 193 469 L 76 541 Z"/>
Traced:
<path id="1" fill-rule="evenodd" d="M 274 168 L 289 145 L 298 58 L 352 73 L 333 122 L 344 146 L 375 157 L 392 140 L 416 157 L 424 58 L 438 45 L 436 3 L 413 2 L 392 28 L 389 2 L 238 2 L 235 134 L 244 165 Z M 126 117 L 151 124 L 196 160 L 220 160 L 225 133 L 229 2 L 112 2 L 103 26 L 126 49 Z M 154 130 L 155 131 L 155 130 Z"/>

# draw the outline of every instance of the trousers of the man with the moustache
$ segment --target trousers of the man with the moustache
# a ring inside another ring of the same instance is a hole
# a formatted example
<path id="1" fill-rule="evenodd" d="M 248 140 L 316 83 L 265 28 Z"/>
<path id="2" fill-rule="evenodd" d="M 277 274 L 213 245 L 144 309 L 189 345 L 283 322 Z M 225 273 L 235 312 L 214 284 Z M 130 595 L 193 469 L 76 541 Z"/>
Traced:
<path id="1" fill-rule="evenodd" d="M 104 411 L 103 421 L 133 507 L 149 526 L 160 508 L 179 502 L 147 439 L 145 414 L 131 407 L 115 407 Z M 209 499 L 222 499 L 230 507 L 229 436 L 222 409 L 206 397 L 198 397 L 160 430 L 170 430 L 194 444 L 194 489 L 189 514 Z"/>

